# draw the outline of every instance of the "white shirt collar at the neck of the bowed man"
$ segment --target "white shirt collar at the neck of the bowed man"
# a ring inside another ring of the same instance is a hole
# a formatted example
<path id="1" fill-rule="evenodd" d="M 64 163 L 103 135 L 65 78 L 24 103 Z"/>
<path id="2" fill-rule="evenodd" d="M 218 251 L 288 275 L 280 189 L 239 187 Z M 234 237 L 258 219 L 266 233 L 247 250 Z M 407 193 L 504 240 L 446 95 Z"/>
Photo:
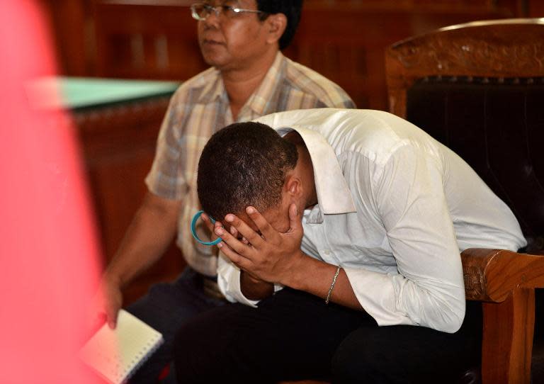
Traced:
<path id="1" fill-rule="evenodd" d="M 295 130 L 304 140 L 312 159 L 317 203 L 322 213 L 334 215 L 356 212 L 348 183 L 344 179 L 334 149 L 327 140 L 319 132 L 308 128 L 292 126 L 275 129 L 282 137 Z"/>

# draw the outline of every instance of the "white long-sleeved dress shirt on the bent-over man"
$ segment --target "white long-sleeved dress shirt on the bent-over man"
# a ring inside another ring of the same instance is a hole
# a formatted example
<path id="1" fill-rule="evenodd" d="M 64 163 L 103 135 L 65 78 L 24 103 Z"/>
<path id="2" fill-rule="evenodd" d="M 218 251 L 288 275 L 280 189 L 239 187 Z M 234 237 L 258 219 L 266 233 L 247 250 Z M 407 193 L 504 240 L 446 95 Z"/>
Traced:
<path id="1" fill-rule="evenodd" d="M 526 245 L 511 210 L 475 171 L 406 120 L 324 108 L 258 121 L 304 140 L 318 204 L 305 210 L 302 251 L 342 266 L 379 325 L 456 332 L 465 315 L 460 252 Z M 227 299 L 255 305 L 239 279 L 239 269 L 220 257 Z"/>

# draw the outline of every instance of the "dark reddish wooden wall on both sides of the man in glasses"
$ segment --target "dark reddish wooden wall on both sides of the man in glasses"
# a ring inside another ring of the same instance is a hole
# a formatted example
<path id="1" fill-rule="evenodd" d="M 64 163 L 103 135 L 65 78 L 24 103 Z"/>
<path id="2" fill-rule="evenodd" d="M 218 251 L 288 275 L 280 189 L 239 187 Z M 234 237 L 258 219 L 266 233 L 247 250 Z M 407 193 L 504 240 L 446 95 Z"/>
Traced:
<path id="1" fill-rule="evenodd" d="M 196 21 L 187 5 L 126 3 L 96 1 L 99 75 L 188 79 L 205 69 L 196 43 Z M 516 4 L 503 3 L 306 1 L 300 28 L 285 55 L 338 83 L 360 108 L 385 109 L 383 52 L 387 45 L 455 23 L 515 16 Z"/>

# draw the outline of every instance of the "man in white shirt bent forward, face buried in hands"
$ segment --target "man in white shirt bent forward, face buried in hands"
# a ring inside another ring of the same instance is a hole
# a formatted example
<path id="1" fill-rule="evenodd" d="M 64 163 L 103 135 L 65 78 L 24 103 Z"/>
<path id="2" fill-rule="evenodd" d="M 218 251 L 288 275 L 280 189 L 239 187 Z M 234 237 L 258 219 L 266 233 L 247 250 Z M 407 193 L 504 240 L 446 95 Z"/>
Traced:
<path id="1" fill-rule="evenodd" d="M 179 379 L 455 383 L 477 366 L 482 308 L 465 302 L 460 252 L 524 247 L 508 206 L 390 113 L 257 120 L 215 133 L 200 157 L 233 303 L 181 327 Z"/>

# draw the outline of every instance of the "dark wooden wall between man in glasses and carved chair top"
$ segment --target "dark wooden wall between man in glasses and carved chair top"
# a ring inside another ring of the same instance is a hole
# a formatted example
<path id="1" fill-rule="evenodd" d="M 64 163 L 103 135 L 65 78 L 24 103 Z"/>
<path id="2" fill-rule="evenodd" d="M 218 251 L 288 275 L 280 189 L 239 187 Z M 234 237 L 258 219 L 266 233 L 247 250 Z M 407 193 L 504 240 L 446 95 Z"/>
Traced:
<path id="1" fill-rule="evenodd" d="M 335 81 L 358 108 L 387 108 L 385 47 L 412 35 L 467 21 L 510 17 L 510 11 L 473 6 L 465 9 L 392 9 L 308 6 L 285 54 Z M 436 4 L 435 4 L 436 7 Z"/>

